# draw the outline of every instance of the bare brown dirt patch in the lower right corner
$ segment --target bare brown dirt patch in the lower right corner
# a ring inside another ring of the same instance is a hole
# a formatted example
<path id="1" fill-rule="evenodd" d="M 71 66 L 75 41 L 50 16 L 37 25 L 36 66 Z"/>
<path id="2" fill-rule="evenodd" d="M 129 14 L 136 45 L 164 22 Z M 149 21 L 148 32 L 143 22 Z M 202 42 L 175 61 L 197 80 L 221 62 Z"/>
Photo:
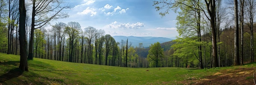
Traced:
<path id="1" fill-rule="evenodd" d="M 253 74 L 254 77 L 253 77 Z M 255 85 L 256 68 L 222 70 L 200 80 L 183 81 L 184 85 Z"/>

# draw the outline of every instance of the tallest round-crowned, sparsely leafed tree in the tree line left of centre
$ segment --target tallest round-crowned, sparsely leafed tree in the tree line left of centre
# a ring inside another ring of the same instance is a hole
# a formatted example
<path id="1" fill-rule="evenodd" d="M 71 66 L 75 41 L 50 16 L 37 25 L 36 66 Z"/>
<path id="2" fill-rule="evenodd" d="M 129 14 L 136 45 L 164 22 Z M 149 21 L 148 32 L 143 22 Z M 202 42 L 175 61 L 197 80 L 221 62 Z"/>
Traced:
<path id="1" fill-rule="evenodd" d="M 67 35 L 69 38 L 69 62 L 74 62 L 72 61 L 72 56 L 73 56 L 73 51 L 74 51 L 74 46 L 75 46 L 75 40 L 79 36 L 79 31 L 81 30 L 81 26 L 78 22 L 68 22 L 66 27 Z"/>

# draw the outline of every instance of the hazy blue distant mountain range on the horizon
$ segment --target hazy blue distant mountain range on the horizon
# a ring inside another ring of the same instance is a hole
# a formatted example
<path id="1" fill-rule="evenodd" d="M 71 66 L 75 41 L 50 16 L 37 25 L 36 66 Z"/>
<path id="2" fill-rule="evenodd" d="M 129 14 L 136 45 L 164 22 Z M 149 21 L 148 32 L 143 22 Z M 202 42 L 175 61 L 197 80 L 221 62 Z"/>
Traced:
<path id="1" fill-rule="evenodd" d="M 164 37 L 152 37 L 152 36 L 145 36 L 145 37 L 138 37 L 138 36 L 113 36 L 115 38 L 116 42 L 120 42 L 121 40 L 126 41 L 128 38 L 128 43 L 132 43 L 132 46 L 139 47 L 139 43 L 143 43 L 144 47 L 149 47 L 151 44 L 154 43 L 164 43 L 171 41 L 173 39 L 171 38 L 164 38 Z"/>

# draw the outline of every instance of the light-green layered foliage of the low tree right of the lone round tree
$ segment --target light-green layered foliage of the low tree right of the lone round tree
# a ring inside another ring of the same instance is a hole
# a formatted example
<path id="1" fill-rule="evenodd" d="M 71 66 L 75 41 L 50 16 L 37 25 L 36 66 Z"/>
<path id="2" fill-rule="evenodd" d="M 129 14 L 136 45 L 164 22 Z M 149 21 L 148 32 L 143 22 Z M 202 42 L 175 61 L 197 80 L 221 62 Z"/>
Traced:
<path id="1" fill-rule="evenodd" d="M 184 66 L 190 65 L 191 67 L 197 67 L 199 64 L 198 46 L 210 46 L 211 43 L 198 42 L 196 38 L 177 38 L 173 40 L 177 42 L 171 47 L 175 52 L 171 55 L 173 57 L 180 57 L 183 60 Z"/>

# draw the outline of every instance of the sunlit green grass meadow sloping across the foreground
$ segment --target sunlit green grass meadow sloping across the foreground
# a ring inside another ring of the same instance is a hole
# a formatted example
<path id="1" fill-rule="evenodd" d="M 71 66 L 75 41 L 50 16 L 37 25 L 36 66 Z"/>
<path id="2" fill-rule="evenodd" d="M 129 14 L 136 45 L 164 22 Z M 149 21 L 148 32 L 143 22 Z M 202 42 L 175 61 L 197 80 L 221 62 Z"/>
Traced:
<path id="1" fill-rule="evenodd" d="M 34 58 L 28 61 L 29 72 L 22 72 L 18 55 L 0 53 L 0 62 L 0 85 L 173 85 L 236 68 L 124 68 Z"/>

